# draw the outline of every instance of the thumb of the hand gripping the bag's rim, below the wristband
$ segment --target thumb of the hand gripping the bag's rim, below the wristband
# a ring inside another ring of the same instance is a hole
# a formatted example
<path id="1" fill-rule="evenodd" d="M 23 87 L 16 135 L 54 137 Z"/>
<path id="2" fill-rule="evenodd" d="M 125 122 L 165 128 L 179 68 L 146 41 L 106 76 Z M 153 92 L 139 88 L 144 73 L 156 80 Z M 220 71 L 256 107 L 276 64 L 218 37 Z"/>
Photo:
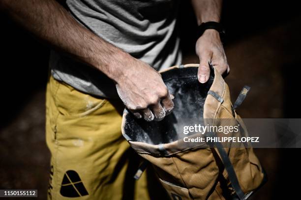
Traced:
<path id="1" fill-rule="evenodd" d="M 198 70 L 198 80 L 200 83 L 204 84 L 209 80 L 210 68 L 208 62 L 211 61 L 211 55 L 207 52 L 200 54 L 200 66 Z"/>

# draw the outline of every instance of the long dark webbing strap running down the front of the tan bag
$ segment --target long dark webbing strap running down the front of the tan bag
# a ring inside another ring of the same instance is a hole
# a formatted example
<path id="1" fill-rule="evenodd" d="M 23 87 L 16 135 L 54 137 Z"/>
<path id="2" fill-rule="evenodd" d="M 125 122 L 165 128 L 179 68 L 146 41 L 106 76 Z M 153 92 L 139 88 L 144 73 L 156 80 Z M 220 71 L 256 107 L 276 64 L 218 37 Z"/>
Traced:
<path id="1" fill-rule="evenodd" d="M 211 132 L 208 133 L 208 137 L 213 137 L 213 136 L 214 136 L 213 133 L 211 133 Z M 231 182 L 231 185 L 232 185 L 236 195 L 238 196 L 238 198 L 240 200 L 245 200 L 245 195 L 241 190 L 240 183 L 237 179 L 237 176 L 236 176 L 236 173 L 232 166 L 232 163 L 231 163 L 224 147 L 222 146 L 222 144 L 220 142 L 215 142 L 214 146 L 216 147 L 217 151 L 219 152 L 220 158 L 223 161 L 226 171 L 228 172 L 229 180 Z"/>

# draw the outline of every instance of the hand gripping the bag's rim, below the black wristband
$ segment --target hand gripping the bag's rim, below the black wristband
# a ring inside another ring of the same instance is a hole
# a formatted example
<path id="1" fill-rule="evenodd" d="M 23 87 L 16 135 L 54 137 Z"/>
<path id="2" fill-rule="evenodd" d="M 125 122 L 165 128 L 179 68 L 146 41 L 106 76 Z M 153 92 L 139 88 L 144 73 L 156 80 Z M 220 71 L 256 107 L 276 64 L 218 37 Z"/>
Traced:
<path id="1" fill-rule="evenodd" d="M 206 83 L 209 79 L 209 63 L 211 63 L 220 74 L 229 73 L 230 68 L 224 48 L 220 41 L 219 33 L 216 30 L 205 30 L 204 34 L 197 40 L 195 51 L 200 58 L 198 70 L 198 79 L 200 83 Z"/>

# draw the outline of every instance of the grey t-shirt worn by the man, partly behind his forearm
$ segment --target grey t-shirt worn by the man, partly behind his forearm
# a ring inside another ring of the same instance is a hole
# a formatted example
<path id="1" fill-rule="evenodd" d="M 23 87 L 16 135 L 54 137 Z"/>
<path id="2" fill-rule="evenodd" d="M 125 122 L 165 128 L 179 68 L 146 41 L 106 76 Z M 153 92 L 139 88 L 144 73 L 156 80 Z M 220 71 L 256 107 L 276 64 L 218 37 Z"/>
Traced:
<path id="1" fill-rule="evenodd" d="M 175 31 L 179 0 L 66 0 L 74 18 L 104 40 L 161 70 L 181 62 Z M 97 96 L 117 98 L 100 71 L 52 51 L 55 79 Z M 147 77 L 146 77 L 147 78 Z"/>

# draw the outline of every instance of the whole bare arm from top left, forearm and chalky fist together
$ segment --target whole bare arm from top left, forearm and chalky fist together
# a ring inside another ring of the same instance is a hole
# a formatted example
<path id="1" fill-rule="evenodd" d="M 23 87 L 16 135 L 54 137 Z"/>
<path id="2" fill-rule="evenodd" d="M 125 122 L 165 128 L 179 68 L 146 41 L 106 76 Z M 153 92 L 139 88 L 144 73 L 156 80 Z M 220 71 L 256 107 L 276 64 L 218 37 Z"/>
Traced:
<path id="1" fill-rule="evenodd" d="M 55 0 L 0 0 L 0 10 L 46 44 L 115 81 L 137 117 L 161 120 L 174 104 L 158 72 L 80 25 Z"/>

